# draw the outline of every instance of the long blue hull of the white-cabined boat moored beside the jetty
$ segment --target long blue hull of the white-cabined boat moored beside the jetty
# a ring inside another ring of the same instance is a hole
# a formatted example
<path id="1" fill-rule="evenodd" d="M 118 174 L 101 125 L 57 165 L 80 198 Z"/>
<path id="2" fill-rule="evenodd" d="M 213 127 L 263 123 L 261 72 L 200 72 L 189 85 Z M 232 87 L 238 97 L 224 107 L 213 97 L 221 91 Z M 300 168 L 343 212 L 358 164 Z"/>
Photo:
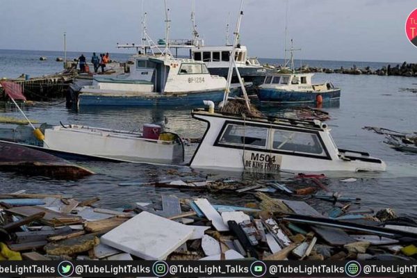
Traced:
<path id="1" fill-rule="evenodd" d="M 231 96 L 236 97 L 239 90 L 232 90 Z M 90 94 L 79 95 L 79 106 L 201 106 L 209 99 L 214 102 L 223 100 L 224 90 L 210 92 L 191 92 L 181 95 L 111 95 Z"/>

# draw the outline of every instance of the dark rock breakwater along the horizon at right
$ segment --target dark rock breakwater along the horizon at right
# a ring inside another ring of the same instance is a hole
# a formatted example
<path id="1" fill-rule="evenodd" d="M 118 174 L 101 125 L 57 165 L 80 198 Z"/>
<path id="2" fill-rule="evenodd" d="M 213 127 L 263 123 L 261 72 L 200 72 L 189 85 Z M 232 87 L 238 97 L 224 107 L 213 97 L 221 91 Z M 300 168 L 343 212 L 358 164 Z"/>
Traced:
<path id="1" fill-rule="evenodd" d="M 271 67 L 270 65 L 266 65 L 266 67 Z M 279 67 L 274 67 L 275 69 L 279 70 Z M 309 65 L 304 65 L 298 69 L 297 72 L 323 72 L 326 74 L 375 74 L 379 76 L 417 76 L 417 63 L 407 63 L 404 62 L 402 65 L 398 64 L 395 67 L 391 65 L 386 65 L 380 69 L 372 69 L 370 67 L 363 67 L 359 68 L 356 65 L 353 67 L 345 68 L 340 67 L 337 69 L 333 68 L 326 68 L 326 67 L 309 67 Z"/>

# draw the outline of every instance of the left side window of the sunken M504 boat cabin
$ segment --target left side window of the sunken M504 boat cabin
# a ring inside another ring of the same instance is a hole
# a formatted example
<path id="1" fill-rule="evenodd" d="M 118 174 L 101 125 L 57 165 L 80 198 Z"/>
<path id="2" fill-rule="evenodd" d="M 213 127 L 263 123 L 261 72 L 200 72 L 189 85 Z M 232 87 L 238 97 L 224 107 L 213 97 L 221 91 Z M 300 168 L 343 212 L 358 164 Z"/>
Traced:
<path id="1" fill-rule="evenodd" d="M 220 144 L 265 148 L 268 128 L 227 124 L 219 140 Z"/>

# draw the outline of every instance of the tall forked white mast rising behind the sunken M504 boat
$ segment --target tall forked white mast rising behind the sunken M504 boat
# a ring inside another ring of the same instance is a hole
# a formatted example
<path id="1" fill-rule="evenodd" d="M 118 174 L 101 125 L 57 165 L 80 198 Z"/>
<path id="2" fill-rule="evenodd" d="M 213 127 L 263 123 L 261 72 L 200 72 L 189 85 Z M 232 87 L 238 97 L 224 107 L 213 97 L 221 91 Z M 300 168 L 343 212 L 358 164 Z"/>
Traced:
<path id="1" fill-rule="evenodd" d="M 236 70 L 236 75 L 238 76 L 240 88 L 243 92 L 243 97 L 245 98 L 246 107 L 248 111 L 251 111 L 250 104 L 249 104 L 249 97 L 247 97 L 245 84 L 243 84 L 242 77 L 240 76 L 240 72 L 238 69 L 238 65 L 236 65 L 235 56 L 236 56 L 236 49 L 238 48 L 238 41 L 239 41 L 239 31 L 240 31 L 240 22 L 242 21 L 243 16 L 243 0 L 240 1 L 240 12 L 238 16 L 238 21 L 236 22 L 236 31 L 234 32 L 234 44 L 233 49 L 230 55 L 230 64 L 229 64 L 229 73 L 227 74 L 227 84 L 226 89 L 224 90 L 224 97 L 223 97 L 223 104 L 227 103 L 227 99 L 229 98 L 230 92 L 230 84 L 231 84 L 231 76 L 233 76 L 233 69 Z M 224 107 L 224 106 L 223 106 Z"/>

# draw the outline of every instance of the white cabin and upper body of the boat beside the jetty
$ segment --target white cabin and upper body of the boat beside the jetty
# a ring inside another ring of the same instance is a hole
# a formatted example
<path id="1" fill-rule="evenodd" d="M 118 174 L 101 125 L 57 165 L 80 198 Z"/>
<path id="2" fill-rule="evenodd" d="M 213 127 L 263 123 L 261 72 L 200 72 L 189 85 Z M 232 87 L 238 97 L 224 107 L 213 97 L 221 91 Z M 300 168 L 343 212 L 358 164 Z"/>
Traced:
<path id="1" fill-rule="evenodd" d="M 83 92 L 140 92 L 142 94 L 170 94 L 223 90 L 226 80 L 211 76 L 206 64 L 191 59 L 165 56 L 136 56 L 129 73 L 117 76 L 95 75 L 92 86 Z"/>

